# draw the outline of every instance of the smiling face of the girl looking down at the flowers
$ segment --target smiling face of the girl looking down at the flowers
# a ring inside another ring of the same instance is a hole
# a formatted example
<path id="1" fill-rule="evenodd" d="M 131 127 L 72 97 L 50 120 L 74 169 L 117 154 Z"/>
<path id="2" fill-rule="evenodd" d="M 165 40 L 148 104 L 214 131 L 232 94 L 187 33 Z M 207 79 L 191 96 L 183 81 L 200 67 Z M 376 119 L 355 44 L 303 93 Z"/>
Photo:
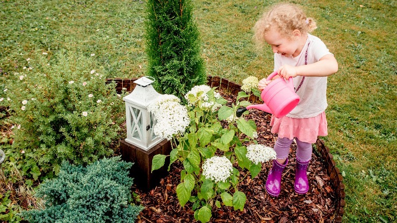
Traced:
<path id="1" fill-rule="evenodd" d="M 272 47 L 274 53 L 280 53 L 284 57 L 296 57 L 300 53 L 300 32 L 293 32 L 291 38 L 281 36 L 279 31 L 271 27 L 265 36 L 265 41 Z"/>

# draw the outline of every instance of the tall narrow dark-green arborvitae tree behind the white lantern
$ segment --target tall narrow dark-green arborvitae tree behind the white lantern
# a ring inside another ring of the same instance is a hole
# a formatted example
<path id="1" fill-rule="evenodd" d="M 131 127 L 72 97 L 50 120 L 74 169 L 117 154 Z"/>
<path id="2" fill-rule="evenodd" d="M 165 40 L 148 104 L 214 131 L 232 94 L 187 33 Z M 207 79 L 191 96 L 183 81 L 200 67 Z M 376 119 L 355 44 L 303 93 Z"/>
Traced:
<path id="1" fill-rule="evenodd" d="M 148 75 L 159 93 L 181 99 L 207 77 L 192 8 L 190 0 L 147 1 Z"/>

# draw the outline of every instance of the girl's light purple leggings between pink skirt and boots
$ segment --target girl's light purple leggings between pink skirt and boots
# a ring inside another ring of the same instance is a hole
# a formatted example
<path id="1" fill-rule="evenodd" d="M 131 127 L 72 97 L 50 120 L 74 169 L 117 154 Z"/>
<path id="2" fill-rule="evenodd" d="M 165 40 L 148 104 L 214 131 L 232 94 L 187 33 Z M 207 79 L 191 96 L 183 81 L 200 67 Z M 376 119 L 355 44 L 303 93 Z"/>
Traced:
<path id="1" fill-rule="evenodd" d="M 313 148 L 311 148 L 311 143 L 304 143 L 295 138 L 296 140 L 296 158 L 300 162 L 306 162 L 311 159 L 311 152 Z M 290 153 L 290 147 L 292 141 L 289 138 L 277 138 L 276 144 L 274 144 L 274 151 L 276 151 L 277 159 L 287 159 L 288 154 Z"/>

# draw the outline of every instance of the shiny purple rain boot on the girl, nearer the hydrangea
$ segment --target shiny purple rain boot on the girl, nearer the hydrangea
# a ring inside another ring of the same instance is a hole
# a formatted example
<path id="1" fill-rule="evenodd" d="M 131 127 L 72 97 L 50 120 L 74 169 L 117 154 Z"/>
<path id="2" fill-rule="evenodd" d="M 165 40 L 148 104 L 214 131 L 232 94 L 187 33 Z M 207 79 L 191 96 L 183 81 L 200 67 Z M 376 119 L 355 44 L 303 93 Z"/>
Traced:
<path id="1" fill-rule="evenodd" d="M 280 164 L 277 160 L 273 160 L 272 169 L 269 171 L 269 175 L 266 180 L 266 192 L 273 197 L 278 197 L 281 190 L 281 175 L 284 168 L 288 164 L 288 158 L 284 164 Z"/>

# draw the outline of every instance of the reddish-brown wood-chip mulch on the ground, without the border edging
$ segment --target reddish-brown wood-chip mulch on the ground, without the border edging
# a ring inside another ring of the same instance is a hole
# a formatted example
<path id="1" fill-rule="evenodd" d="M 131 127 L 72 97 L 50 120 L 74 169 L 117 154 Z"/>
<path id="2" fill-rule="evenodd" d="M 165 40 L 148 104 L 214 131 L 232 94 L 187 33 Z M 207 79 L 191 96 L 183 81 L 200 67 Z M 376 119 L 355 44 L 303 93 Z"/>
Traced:
<path id="1" fill-rule="evenodd" d="M 223 93 L 222 96 L 229 103 L 236 100 L 228 94 Z M 273 147 L 277 136 L 270 132 L 271 115 L 260 110 L 250 110 L 246 117 L 253 119 L 258 126 L 258 143 Z M 293 143 L 289 164 L 282 176 L 281 193 L 277 198 L 266 193 L 265 183 L 272 164 L 264 163 L 257 177 L 247 177 L 238 185 L 239 191 L 247 197 L 243 211 L 213 205 L 209 222 L 333 222 L 337 199 L 320 155 L 312 154 L 309 163 L 309 191 L 304 195 L 294 192 L 295 150 L 296 145 Z M 241 175 L 247 173 L 237 163 L 234 166 Z M 181 170 L 183 165 L 180 162 L 173 163 L 169 175 L 149 192 L 141 191 L 133 185 L 132 189 L 138 195 L 140 204 L 145 207 L 136 222 L 197 222 L 193 216 L 192 203 L 188 202 L 181 207 L 177 198 L 176 187 L 180 183 Z"/>

